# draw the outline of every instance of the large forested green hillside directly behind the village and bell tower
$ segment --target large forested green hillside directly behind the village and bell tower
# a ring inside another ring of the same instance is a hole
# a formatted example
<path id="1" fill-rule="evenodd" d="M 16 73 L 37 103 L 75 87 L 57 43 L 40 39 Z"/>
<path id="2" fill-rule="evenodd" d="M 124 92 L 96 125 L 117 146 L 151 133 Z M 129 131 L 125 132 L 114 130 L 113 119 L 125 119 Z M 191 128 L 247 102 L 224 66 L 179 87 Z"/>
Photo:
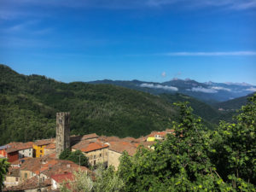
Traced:
<path id="1" fill-rule="evenodd" d="M 140 137 L 170 127 L 176 111 L 159 96 L 108 84 L 64 84 L 0 66 L 0 143 L 55 137 L 55 113 L 73 134 Z"/>

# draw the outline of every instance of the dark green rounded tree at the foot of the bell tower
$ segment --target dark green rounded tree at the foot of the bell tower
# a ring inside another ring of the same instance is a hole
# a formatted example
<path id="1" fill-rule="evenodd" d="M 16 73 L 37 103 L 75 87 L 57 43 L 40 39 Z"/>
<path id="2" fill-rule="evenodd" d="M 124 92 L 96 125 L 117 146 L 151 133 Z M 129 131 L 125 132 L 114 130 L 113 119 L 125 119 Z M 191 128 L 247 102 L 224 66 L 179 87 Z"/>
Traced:
<path id="1" fill-rule="evenodd" d="M 88 157 L 86 157 L 80 150 L 71 152 L 69 149 L 66 149 L 61 152 L 59 158 L 61 160 L 71 160 L 80 166 L 89 166 Z"/>

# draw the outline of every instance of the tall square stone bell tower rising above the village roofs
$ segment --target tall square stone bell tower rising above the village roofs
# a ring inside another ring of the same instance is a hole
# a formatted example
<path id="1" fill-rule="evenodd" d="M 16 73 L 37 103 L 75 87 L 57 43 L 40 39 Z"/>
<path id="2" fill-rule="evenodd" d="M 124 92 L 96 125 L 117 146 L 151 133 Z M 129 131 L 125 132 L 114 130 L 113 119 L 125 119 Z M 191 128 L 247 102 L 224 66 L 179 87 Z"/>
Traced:
<path id="1" fill-rule="evenodd" d="M 56 113 L 56 158 L 66 148 L 70 148 L 69 113 Z"/>

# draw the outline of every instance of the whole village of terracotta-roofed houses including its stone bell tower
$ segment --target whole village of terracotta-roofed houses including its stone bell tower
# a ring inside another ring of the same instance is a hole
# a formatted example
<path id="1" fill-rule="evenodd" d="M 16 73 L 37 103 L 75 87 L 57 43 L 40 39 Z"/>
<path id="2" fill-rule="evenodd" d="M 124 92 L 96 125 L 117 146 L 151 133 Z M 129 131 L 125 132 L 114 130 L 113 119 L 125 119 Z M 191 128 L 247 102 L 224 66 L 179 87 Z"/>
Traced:
<path id="1" fill-rule="evenodd" d="M 105 137 L 96 133 L 70 136 L 69 113 L 56 114 L 56 137 L 28 143 L 8 143 L 0 147 L 0 158 L 10 163 L 3 191 L 59 191 L 61 183 L 73 179 L 73 172 L 92 171 L 70 160 L 59 160 L 62 151 L 80 150 L 90 166 L 102 163 L 119 166 L 119 157 L 126 151 L 133 155 L 137 147 L 151 147 L 156 140 L 163 140 L 172 130 L 153 131 L 147 137 Z"/>

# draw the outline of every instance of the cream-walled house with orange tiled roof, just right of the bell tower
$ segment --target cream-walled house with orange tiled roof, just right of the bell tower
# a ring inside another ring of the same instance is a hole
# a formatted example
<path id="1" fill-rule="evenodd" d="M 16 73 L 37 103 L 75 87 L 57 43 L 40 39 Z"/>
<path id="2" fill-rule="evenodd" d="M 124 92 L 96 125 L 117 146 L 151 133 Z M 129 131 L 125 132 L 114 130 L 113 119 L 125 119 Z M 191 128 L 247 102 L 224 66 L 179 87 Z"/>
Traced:
<path id="1" fill-rule="evenodd" d="M 108 165 L 108 144 L 84 140 L 72 146 L 72 151 L 80 150 L 89 158 L 90 165 L 97 163 Z"/>

